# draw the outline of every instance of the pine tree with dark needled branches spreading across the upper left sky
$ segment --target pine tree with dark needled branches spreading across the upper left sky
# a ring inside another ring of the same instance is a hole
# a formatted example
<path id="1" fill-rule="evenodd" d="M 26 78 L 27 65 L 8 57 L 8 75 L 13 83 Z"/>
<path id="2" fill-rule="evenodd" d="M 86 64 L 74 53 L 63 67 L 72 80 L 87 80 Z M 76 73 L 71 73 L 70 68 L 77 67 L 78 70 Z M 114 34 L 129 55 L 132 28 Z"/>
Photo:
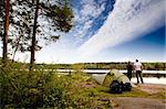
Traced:
<path id="1" fill-rule="evenodd" d="M 3 6 L 0 2 L 0 9 L 2 9 L 0 12 L 0 25 L 4 21 Z M 8 43 L 10 43 L 9 50 L 11 50 L 12 58 L 14 58 L 18 51 L 31 52 L 31 64 L 33 64 L 35 51 L 42 48 L 39 42 L 56 42 L 60 35 L 51 33 L 69 32 L 73 26 L 73 17 L 72 9 L 66 0 L 41 0 L 39 3 L 38 0 L 15 0 L 10 2 L 10 36 Z M 3 34 L 3 29 L 1 28 L 0 35 Z"/>

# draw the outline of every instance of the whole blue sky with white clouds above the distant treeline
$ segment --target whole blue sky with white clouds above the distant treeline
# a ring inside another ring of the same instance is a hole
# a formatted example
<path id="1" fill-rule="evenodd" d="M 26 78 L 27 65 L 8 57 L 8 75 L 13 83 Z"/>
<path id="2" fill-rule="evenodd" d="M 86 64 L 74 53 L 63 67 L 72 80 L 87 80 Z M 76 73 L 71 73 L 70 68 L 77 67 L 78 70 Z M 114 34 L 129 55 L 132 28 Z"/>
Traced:
<path id="1" fill-rule="evenodd" d="M 73 29 L 38 52 L 37 63 L 166 62 L 165 0 L 70 1 Z"/>

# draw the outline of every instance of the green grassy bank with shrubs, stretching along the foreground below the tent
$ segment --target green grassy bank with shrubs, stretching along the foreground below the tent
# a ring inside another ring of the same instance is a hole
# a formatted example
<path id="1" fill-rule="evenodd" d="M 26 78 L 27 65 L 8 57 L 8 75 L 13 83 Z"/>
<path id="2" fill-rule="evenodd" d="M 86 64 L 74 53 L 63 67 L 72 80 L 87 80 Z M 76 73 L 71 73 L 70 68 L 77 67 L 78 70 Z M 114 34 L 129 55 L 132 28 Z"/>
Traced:
<path id="1" fill-rule="evenodd" d="M 14 70 L 15 68 L 20 70 Z M 164 99 L 164 91 L 148 94 L 137 88 L 121 95 L 110 94 L 110 88 L 96 84 L 89 75 L 74 67 L 71 75 L 59 75 L 37 67 L 27 70 L 25 65 L 9 63 L 0 67 L 1 108 L 58 108 L 89 109 L 113 108 L 113 98 L 141 97 Z"/>

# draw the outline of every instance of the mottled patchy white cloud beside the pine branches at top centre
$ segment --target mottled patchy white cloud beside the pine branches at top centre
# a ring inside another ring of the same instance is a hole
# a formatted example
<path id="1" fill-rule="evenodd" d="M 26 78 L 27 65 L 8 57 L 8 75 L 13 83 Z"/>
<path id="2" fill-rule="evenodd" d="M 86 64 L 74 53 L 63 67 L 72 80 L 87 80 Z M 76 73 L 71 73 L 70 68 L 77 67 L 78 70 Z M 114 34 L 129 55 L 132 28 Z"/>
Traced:
<path id="1" fill-rule="evenodd" d="M 70 33 L 75 39 L 75 43 L 81 43 L 87 34 L 89 29 L 93 25 L 96 19 L 105 10 L 105 0 L 101 0 L 98 4 L 95 0 L 81 0 L 81 9 L 74 9 L 75 12 L 75 26 Z"/>

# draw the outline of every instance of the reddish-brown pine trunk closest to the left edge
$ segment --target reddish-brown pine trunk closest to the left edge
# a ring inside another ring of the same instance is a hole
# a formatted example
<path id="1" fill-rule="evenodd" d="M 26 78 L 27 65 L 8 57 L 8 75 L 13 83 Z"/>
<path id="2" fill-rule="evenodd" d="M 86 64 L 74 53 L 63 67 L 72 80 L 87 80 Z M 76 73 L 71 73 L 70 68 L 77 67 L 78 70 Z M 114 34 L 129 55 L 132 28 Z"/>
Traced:
<path id="1" fill-rule="evenodd" d="M 4 17 L 4 34 L 3 34 L 2 59 L 6 63 L 6 59 L 8 58 L 9 0 L 4 0 L 4 9 L 6 9 L 6 17 Z"/>

